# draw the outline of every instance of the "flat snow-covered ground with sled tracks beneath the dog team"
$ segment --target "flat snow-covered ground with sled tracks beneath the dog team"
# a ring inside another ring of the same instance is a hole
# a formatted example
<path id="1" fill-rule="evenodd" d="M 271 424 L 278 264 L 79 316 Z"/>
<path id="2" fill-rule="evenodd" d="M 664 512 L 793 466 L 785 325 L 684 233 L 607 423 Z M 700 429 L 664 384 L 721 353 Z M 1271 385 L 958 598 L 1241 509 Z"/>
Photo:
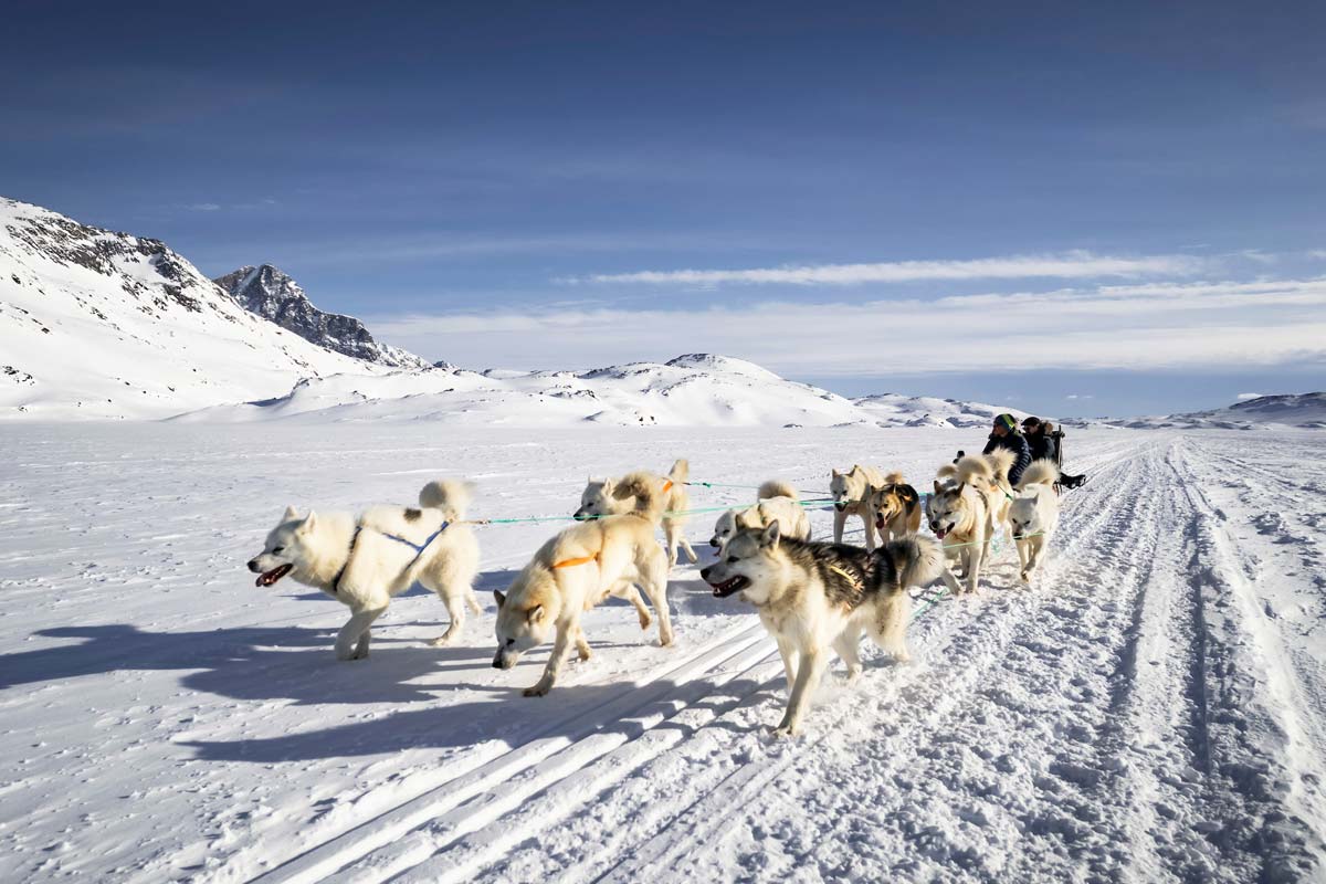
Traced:
<path id="1" fill-rule="evenodd" d="M 981 596 L 915 623 L 915 663 L 835 671 L 773 742 L 777 653 L 692 567 L 675 647 L 607 606 L 537 700 L 546 648 L 491 668 L 487 592 L 456 647 L 427 645 L 444 612 L 416 591 L 337 663 L 345 608 L 243 563 L 289 502 L 410 502 L 439 474 L 479 482 L 475 517 L 565 513 L 587 472 L 678 456 L 924 485 L 979 433 L 9 424 L 0 880 L 1321 880 L 1322 440 L 1073 432 L 1091 481 L 1037 587 L 1002 549 Z M 476 530 L 492 590 L 556 526 Z"/>

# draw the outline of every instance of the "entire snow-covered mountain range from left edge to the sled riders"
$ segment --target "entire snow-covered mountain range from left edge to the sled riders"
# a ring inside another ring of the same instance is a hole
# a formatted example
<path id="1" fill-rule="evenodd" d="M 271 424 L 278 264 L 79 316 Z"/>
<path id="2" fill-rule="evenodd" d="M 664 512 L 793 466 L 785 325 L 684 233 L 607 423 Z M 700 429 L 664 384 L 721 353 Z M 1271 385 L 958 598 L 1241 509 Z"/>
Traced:
<path id="1" fill-rule="evenodd" d="M 434 368 L 318 310 L 271 265 L 213 282 L 159 240 L 7 199 L 0 341 L 0 417 L 984 427 L 1001 411 L 854 402 L 715 354 L 589 371 Z"/>

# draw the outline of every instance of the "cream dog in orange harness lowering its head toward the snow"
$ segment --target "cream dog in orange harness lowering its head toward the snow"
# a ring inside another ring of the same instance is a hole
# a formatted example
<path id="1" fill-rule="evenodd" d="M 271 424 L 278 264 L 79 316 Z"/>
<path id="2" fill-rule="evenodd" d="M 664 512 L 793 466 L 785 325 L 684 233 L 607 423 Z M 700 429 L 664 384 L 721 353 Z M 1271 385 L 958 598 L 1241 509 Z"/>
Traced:
<path id="1" fill-rule="evenodd" d="M 589 660 L 581 614 L 609 595 L 635 606 L 640 628 L 650 628 L 650 612 L 634 584 L 650 596 L 659 618 L 659 644 L 672 644 L 667 607 L 668 559 L 654 539 L 666 492 L 658 477 L 633 473 L 613 482 L 614 502 L 629 512 L 573 525 L 550 538 L 497 599 L 497 653 L 493 667 L 509 669 L 520 655 L 553 637 L 553 653 L 544 676 L 526 697 L 546 694 L 557 681 L 572 643 Z"/>

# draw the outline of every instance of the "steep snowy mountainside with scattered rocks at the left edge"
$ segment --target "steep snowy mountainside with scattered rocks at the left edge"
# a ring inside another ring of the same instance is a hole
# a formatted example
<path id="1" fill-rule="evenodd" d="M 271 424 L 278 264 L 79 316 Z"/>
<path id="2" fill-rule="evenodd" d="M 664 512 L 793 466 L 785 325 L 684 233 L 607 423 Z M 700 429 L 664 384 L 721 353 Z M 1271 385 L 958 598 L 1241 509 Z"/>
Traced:
<path id="1" fill-rule="evenodd" d="M 244 310 L 159 240 L 0 197 L 0 417 L 152 417 L 385 368 Z"/>

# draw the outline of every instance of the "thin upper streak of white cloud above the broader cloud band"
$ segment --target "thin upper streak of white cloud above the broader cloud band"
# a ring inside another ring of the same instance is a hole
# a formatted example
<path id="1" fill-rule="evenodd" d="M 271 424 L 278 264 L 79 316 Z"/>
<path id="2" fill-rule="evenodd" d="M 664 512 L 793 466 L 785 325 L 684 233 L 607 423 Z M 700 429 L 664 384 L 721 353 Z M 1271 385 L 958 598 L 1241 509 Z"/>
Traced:
<path id="1" fill-rule="evenodd" d="M 964 261 L 890 261 L 883 264 L 817 264 L 753 268 L 744 270 L 638 270 L 565 277 L 568 284 L 647 285 L 861 285 L 863 282 L 915 282 L 919 280 L 1028 280 L 1098 278 L 1139 276 L 1185 276 L 1208 262 L 1191 254 L 1111 257 L 1091 252 L 1020 254 Z"/>

